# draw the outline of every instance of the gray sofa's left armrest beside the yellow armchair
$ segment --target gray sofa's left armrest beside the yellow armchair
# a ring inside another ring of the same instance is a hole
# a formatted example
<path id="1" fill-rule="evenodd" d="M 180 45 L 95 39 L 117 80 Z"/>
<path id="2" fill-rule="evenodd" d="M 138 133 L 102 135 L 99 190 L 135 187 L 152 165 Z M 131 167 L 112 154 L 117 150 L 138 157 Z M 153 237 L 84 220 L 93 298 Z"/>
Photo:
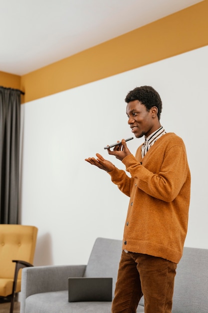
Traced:
<path id="1" fill-rule="evenodd" d="M 33 266 L 22 269 L 21 302 L 34 293 L 68 289 L 68 277 L 82 277 L 86 265 Z"/>

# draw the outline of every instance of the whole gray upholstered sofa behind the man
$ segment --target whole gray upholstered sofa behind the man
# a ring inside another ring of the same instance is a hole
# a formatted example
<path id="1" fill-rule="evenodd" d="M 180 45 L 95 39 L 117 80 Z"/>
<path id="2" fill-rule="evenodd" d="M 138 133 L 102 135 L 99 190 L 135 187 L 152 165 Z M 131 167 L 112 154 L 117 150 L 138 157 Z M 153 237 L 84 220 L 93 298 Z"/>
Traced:
<path id="1" fill-rule="evenodd" d="M 20 313 L 110 313 L 111 302 L 68 302 L 68 277 L 113 277 L 114 292 L 121 246 L 121 240 L 97 238 L 87 265 L 24 268 Z M 143 298 L 137 312 L 144 312 Z M 208 249 L 184 248 L 172 313 L 208 313 Z"/>

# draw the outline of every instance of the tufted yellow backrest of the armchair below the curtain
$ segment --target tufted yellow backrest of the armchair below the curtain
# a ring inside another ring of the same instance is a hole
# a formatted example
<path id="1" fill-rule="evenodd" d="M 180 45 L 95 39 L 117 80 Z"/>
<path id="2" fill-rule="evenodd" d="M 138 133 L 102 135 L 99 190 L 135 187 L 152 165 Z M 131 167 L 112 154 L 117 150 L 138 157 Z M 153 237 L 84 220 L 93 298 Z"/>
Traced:
<path id="1" fill-rule="evenodd" d="M 37 227 L 0 224 L 0 278 L 13 279 L 15 260 L 32 263 Z"/>

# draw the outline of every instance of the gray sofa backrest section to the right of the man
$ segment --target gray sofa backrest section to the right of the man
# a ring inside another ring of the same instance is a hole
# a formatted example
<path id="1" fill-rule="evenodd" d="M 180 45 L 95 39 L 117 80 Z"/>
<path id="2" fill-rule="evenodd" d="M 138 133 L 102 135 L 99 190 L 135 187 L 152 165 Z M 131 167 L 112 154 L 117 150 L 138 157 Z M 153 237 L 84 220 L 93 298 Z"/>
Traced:
<path id="1" fill-rule="evenodd" d="M 208 249 L 184 247 L 177 266 L 172 313 L 208 313 Z"/>

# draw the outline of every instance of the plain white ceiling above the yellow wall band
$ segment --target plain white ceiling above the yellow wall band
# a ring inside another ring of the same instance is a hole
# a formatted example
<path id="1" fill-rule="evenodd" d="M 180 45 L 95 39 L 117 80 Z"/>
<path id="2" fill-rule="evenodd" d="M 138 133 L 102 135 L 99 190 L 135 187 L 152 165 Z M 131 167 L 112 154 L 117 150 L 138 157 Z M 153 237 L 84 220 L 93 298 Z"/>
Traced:
<path id="1" fill-rule="evenodd" d="M 22 75 L 201 0 L 0 0 L 0 71 Z"/>

